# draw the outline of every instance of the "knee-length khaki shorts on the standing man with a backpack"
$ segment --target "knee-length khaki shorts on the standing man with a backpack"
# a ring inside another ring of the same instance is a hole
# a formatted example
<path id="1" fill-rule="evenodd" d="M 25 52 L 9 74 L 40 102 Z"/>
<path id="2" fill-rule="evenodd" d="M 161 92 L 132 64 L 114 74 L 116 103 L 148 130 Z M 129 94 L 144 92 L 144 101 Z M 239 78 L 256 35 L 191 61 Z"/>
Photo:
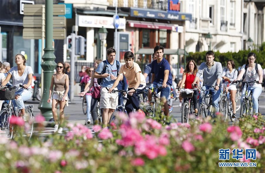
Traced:
<path id="1" fill-rule="evenodd" d="M 114 90 L 117 90 L 117 88 L 114 88 Z M 118 100 L 118 93 L 108 93 L 105 87 L 100 88 L 100 109 L 116 109 Z"/>

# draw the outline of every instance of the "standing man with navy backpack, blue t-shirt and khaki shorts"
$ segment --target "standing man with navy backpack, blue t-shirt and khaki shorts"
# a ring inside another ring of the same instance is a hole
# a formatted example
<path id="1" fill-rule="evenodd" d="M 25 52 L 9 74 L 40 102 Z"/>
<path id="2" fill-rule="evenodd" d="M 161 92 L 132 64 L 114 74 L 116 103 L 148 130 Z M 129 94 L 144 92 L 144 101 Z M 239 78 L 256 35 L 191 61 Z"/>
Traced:
<path id="1" fill-rule="evenodd" d="M 100 89 L 100 109 L 103 109 L 103 127 L 107 127 L 111 114 L 118 105 L 118 93 L 109 93 L 107 88 L 111 88 L 117 79 L 118 71 L 121 63 L 115 60 L 116 50 L 110 47 L 107 49 L 107 60 L 102 61 L 95 73 L 94 78 L 98 78 L 97 82 L 101 86 Z M 115 88 L 117 90 L 117 88 Z"/>

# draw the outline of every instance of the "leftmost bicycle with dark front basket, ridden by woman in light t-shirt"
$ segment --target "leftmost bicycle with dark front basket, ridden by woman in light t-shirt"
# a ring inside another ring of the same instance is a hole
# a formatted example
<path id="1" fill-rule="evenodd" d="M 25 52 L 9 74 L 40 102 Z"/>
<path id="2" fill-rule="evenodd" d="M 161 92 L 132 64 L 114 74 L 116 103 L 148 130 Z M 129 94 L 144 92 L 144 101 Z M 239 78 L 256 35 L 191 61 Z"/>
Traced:
<path id="1" fill-rule="evenodd" d="M 11 116 L 17 116 L 15 107 L 12 103 L 12 100 L 15 99 L 15 89 L 16 88 L 23 88 L 23 85 L 19 85 L 19 87 L 12 86 L 12 87 L 2 87 L 0 88 L 6 94 L 9 95 L 9 98 L 2 98 L 3 100 L 9 100 L 9 103 L 4 103 L 4 108 L 0 111 L 0 122 L 1 122 L 1 130 L 4 131 L 4 135 L 9 138 L 10 140 L 14 137 L 14 126 L 10 127 L 10 118 Z M 25 129 L 22 136 L 24 136 L 27 141 L 30 141 L 33 133 L 33 105 L 25 105 L 25 114 L 26 114 L 26 123 L 29 124 L 29 127 Z M 18 112 L 20 115 L 20 110 Z M 21 137 L 21 136 L 20 136 Z"/>

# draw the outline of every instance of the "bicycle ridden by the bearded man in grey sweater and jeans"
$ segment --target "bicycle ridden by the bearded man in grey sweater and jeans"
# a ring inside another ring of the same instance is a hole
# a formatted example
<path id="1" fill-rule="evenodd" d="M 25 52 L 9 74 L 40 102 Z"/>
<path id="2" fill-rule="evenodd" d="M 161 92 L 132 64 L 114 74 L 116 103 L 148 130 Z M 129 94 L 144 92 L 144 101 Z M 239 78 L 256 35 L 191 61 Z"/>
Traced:
<path id="1" fill-rule="evenodd" d="M 194 86 L 195 87 L 197 86 L 201 90 L 200 95 L 202 96 L 202 102 L 199 104 L 197 117 L 201 117 L 201 118 L 208 118 L 209 116 L 213 117 L 214 113 L 213 113 L 213 104 L 212 104 L 212 94 L 211 92 L 209 92 L 209 94 L 206 95 L 206 92 L 210 91 L 214 87 L 211 87 L 208 90 L 204 90 L 200 85 L 194 84 Z M 207 116 L 206 116 L 206 111 L 205 111 L 205 98 L 209 98 L 209 103 L 206 108 L 208 109 Z"/>

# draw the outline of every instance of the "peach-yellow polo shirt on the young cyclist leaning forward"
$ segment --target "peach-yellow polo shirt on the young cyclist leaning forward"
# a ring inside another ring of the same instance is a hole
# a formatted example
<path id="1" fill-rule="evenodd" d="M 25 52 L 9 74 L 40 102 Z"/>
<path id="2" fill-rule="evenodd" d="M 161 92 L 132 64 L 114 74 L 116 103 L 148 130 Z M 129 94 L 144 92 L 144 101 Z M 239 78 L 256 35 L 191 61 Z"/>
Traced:
<path id="1" fill-rule="evenodd" d="M 136 73 L 138 73 L 138 72 L 140 72 L 140 79 L 141 79 L 140 84 L 146 86 L 145 76 L 142 74 L 142 71 L 136 62 L 133 62 L 131 69 L 127 68 L 126 64 L 122 65 L 120 67 L 118 74 L 119 75 L 125 75 L 125 78 L 128 81 L 128 88 L 133 88 L 137 82 Z"/>

